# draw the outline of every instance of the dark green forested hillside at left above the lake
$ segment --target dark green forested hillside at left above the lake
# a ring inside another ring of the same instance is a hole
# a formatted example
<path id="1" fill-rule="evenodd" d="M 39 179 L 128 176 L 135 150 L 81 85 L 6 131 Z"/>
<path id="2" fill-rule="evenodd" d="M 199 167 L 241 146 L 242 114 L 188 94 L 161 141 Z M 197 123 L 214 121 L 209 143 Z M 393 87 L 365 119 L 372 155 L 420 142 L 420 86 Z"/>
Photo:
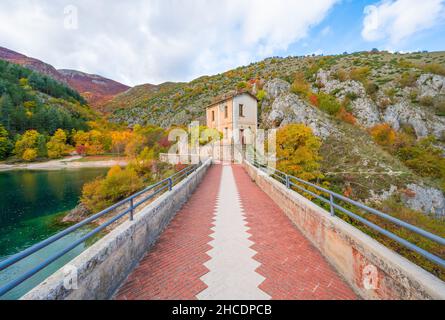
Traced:
<path id="1" fill-rule="evenodd" d="M 78 92 L 19 65 L 0 61 L 0 157 L 12 153 L 19 135 L 35 130 L 45 136 L 57 129 L 88 128 L 96 117 Z"/>

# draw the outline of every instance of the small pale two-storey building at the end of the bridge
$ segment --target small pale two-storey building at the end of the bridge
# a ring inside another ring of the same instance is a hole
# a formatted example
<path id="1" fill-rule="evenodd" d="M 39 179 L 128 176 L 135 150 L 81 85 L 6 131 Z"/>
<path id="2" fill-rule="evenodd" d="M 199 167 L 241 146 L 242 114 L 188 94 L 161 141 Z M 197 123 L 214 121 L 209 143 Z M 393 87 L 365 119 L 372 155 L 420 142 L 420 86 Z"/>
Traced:
<path id="1" fill-rule="evenodd" d="M 207 127 L 223 133 L 224 141 L 251 144 L 258 128 L 258 100 L 248 93 L 236 93 L 206 108 Z"/>

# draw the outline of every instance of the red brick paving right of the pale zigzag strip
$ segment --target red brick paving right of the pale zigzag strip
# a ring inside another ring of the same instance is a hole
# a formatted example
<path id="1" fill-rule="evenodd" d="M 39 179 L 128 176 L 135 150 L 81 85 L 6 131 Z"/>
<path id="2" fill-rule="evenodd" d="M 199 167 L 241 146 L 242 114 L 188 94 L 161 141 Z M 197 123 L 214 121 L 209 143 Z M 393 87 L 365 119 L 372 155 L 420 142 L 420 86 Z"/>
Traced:
<path id="1" fill-rule="evenodd" d="M 266 280 L 260 289 L 274 300 L 354 299 L 356 295 L 286 217 L 281 209 L 234 166 L 241 203 L 261 263 L 257 272 Z"/>

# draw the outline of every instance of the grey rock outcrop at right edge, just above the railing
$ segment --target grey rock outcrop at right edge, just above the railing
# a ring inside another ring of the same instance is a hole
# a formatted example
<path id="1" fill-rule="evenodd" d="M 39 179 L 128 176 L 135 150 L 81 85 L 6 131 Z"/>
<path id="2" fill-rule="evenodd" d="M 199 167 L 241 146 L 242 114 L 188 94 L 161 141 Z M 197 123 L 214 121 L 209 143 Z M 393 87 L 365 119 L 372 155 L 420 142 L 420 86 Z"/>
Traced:
<path id="1" fill-rule="evenodd" d="M 441 191 L 417 184 L 410 184 L 407 187 L 412 191 L 412 196 L 403 197 L 408 207 L 427 214 L 445 215 L 445 197 Z"/>

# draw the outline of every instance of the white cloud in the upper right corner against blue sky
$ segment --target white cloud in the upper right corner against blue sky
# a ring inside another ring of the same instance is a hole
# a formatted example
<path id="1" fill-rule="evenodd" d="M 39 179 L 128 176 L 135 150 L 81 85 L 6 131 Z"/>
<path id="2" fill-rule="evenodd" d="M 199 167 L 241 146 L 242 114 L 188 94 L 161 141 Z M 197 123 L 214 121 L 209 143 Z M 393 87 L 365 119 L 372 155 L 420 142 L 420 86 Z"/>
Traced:
<path id="1" fill-rule="evenodd" d="M 445 20 L 445 0 L 383 0 L 364 11 L 362 36 L 366 41 L 397 44 Z"/>

